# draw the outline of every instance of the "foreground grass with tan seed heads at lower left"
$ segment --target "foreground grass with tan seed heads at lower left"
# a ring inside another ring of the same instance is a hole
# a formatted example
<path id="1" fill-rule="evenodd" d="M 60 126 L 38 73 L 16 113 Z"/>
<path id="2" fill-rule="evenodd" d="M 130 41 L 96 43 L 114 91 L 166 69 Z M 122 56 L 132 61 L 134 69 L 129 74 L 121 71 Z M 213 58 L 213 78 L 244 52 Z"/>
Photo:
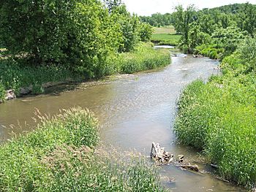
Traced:
<path id="1" fill-rule="evenodd" d="M 35 131 L 0 146 L 0 191 L 163 191 L 145 158 L 95 148 L 89 111 L 62 113 L 39 117 Z"/>

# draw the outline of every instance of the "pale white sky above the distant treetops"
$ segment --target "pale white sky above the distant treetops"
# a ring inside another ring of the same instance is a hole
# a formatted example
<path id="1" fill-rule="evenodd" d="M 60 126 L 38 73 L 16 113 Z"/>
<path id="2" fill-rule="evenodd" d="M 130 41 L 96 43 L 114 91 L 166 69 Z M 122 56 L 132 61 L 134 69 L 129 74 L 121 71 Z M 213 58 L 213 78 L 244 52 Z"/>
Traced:
<path id="1" fill-rule="evenodd" d="M 195 4 L 198 9 L 219 7 L 225 4 L 241 4 L 247 1 L 256 4 L 256 0 L 123 0 L 127 9 L 137 15 L 152 15 L 160 12 L 162 14 L 173 12 L 173 7 L 182 4 L 187 7 L 189 4 Z"/>

